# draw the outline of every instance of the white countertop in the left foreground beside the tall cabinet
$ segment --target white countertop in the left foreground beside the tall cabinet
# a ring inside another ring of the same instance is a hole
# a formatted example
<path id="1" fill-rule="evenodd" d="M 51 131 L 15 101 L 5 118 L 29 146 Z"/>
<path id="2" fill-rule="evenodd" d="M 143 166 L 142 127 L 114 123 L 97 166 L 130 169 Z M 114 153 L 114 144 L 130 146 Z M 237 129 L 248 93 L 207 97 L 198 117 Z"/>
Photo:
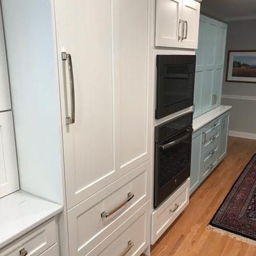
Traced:
<path id="1" fill-rule="evenodd" d="M 49 220 L 63 206 L 19 190 L 0 199 L 0 249 Z"/>

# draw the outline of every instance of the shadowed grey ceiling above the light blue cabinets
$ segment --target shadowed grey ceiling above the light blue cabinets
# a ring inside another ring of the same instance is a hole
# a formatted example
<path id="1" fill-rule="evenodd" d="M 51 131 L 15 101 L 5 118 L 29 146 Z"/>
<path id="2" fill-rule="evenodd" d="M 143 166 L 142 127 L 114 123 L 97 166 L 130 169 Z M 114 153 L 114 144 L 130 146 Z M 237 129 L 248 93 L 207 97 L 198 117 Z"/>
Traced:
<path id="1" fill-rule="evenodd" d="M 201 10 L 222 20 L 256 19 L 256 0 L 203 0 Z"/>

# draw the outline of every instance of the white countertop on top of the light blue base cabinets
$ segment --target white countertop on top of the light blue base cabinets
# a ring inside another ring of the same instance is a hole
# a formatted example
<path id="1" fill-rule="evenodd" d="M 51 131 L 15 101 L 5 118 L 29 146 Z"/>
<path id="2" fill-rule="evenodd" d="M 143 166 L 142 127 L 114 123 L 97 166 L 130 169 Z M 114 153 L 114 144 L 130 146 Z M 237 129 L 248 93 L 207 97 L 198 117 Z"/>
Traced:
<path id="1" fill-rule="evenodd" d="M 194 132 L 201 127 L 203 127 L 205 124 L 211 122 L 218 116 L 223 115 L 225 112 L 230 110 L 232 106 L 219 106 L 217 108 L 212 109 L 211 111 L 205 113 L 204 115 L 198 116 L 193 120 L 193 129 Z"/>

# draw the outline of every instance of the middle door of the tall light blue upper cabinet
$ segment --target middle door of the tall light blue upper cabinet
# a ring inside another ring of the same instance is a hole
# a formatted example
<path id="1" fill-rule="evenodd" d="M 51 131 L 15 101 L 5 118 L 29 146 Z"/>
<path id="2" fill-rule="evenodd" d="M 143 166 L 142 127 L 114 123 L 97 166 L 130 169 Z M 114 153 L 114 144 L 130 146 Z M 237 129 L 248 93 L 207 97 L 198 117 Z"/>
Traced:
<path id="1" fill-rule="evenodd" d="M 216 61 L 216 45 L 218 38 L 218 20 L 203 16 L 205 20 L 204 46 L 204 76 L 202 86 L 202 114 L 211 110 L 214 104 L 212 88 L 214 84 L 214 70 Z"/>

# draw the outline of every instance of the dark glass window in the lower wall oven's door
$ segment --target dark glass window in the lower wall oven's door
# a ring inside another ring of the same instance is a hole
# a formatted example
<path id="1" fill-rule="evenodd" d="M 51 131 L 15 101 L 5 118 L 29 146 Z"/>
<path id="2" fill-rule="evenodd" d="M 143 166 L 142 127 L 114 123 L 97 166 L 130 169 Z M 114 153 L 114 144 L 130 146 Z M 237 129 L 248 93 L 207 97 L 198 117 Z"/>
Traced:
<path id="1" fill-rule="evenodd" d="M 161 150 L 159 154 L 159 188 L 163 188 L 164 185 L 190 164 L 190 156 L 191 137 L 173 147 Z"/>

